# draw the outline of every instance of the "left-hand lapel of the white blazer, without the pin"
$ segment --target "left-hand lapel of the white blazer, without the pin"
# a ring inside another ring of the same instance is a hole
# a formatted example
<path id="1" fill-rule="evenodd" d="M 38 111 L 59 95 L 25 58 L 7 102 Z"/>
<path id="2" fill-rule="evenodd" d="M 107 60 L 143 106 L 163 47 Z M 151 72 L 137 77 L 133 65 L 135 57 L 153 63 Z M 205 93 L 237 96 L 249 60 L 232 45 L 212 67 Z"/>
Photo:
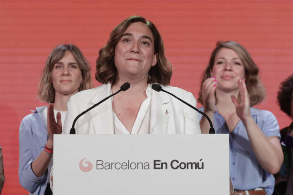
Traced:
<path id="1" fill-rule="evenodd" d="M 93 96 L 91 104 L 94 105 L 110 95 L 111 84 L 104 84 Z M 114 134 L 112 98 L 91 109 L 94 134 Z M 91 132 L 90 132 L 91 134 Z"/>

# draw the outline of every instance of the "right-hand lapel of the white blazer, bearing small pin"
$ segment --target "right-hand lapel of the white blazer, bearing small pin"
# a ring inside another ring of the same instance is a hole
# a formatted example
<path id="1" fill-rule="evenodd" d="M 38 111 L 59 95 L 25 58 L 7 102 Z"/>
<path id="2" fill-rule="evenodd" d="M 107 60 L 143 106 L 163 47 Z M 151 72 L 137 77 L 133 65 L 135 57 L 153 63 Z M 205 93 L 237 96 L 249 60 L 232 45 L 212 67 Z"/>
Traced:
<path id="1" fill-rule="evenodd" d="M 151 89 L 150 134 L 168 133 L 167 125 L 170 116 L 173 114 L 169 103 L 170 97 L 168 94 Z"/>

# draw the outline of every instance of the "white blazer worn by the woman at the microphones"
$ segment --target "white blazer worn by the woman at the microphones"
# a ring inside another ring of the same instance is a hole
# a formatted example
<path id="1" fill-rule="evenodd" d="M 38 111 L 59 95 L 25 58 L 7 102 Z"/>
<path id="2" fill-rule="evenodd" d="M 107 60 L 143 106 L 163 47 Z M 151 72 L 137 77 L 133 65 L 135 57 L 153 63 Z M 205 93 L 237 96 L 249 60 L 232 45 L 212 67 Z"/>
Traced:
<path id="1" fill-rule="evenodd" d="M 196 99 L 192 93 L 177 87 L 162 86 L 162 88 L 196 107 Z M 71 96 L 67 103 L 68 111 L 62 133 L 69 134 L 74 118 L 109 96 L 110 89 L 111 84 L 108 83 Z M 127 91 L 120 93 L 127 93 Z M 173 96 L 151 89 L 150 106 L 150 134 L 201 133 L 197 111 Z M 76 134 L 114 134 L 111 98 L 81 116 L 76 121 L 75 129 Z"/>

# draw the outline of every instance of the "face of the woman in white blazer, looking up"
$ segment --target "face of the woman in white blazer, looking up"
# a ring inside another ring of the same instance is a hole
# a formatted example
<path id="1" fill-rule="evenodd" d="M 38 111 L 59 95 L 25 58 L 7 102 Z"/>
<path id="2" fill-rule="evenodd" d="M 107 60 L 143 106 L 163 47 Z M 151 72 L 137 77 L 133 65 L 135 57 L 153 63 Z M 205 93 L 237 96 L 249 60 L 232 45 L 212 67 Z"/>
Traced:
<path id="1" fill-rule="evenodd" d="M 119 77 L 148 77 L 149 69 L 156 65 L 154 38 L 151 30 L 141 22 L 132 23 L 116 44 L 115 66 Z"/>

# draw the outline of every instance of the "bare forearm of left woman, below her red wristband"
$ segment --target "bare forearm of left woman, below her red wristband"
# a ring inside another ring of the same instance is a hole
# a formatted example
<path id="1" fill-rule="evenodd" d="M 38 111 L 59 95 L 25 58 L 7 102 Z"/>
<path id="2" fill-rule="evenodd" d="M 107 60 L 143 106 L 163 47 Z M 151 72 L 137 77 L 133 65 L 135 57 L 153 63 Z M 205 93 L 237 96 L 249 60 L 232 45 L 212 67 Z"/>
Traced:
<path id="1" fill-rule="evenodd" d="M 53 142 L 48 140 L 46 146 L 52 149 Z M 46 172 L 51 158 L 52 157 L 45 150 L 43 150 L 40 155 L 32 162 L 32 170 L 37 177 L 42 177 L 42 175 Z"/>

